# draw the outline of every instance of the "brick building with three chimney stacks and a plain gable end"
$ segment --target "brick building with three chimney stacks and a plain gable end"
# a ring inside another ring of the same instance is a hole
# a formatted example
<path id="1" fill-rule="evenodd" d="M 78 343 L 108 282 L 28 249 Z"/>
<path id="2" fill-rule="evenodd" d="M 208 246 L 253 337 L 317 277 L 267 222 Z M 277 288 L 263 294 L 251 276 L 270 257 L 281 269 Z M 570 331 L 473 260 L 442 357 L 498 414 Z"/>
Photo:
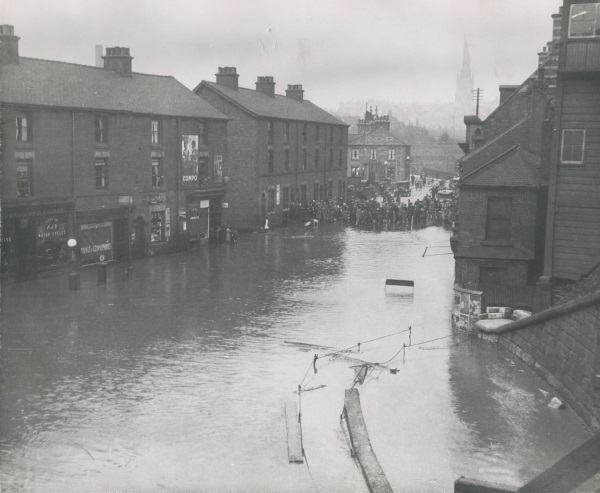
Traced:
<path id="1" fill-rule="evenodd" d="M 235 67 L 194 89 L 229 119 L 228 209 L 224 221 L 256 229 L 282 224 L 290 204 L 343 196 L 348 126 L 304 99 L 301 85 L 275 94 L 272 77 L 238 86 Z"/>

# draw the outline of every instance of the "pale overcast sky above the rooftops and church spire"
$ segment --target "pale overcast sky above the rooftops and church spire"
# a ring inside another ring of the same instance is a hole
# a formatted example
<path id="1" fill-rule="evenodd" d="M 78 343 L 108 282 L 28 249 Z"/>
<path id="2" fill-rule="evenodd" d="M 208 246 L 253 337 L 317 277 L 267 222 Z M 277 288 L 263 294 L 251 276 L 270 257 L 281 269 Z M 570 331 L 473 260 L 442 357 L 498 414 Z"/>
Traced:
<path id="1" fill-rule="evenodd" d="M 136 72 L 189 88 L 235 66 L 243 87 L 272 75 L 340 101 L 451 102 L 467 36 L 475 85 L 494 99 L 537 67 L 562 0 L 6 0 L 21 56 L 94 64 L 126 46 Z"/>

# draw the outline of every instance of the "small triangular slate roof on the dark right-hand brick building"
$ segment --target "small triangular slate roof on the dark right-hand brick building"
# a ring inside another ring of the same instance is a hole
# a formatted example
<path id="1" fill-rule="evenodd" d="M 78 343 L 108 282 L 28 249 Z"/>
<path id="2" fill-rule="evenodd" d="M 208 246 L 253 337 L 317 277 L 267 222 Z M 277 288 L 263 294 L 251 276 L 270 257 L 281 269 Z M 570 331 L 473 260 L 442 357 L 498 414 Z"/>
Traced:
<path id="1" fill-rule="evenodd" d="M 461 177 L 459 183 L 480 187 L 539 187 L 544 184 L 539 165 L 538 156 L 517 144 Z"/>

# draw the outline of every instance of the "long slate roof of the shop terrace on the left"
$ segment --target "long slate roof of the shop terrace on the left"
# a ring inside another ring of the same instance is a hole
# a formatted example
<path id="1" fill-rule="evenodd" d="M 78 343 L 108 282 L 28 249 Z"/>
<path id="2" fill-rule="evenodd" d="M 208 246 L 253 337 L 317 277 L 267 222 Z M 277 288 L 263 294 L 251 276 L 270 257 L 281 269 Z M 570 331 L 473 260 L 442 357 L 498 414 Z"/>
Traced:
<path id="1" fill-rule="evenodd" d="M 20 57 L 0 71 L 6 103 L 126 111 L 191 118 L 227 119 L 170 76 L 112 70 Z"/>

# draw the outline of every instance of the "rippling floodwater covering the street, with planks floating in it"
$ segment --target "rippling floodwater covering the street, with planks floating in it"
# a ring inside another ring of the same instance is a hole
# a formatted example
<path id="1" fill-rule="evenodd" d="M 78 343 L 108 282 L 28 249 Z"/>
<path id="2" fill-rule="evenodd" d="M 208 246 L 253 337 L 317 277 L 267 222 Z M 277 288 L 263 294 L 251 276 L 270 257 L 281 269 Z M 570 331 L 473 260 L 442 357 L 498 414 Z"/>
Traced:
<path id="1" fill-rule="evenodd" d="M 522 484 L 588 435 L 508 353 L 452 333 L 447 253 L 441 228 L 299 226 L 136 261 L 131 281 L 86 269 L 76 292 L 64 272 L 4 281 L 1 491 L 366 492 L 340 426 L 353 384 L 395 491 Z M 385 365 L 358 383 L 356 360 Z"/>

